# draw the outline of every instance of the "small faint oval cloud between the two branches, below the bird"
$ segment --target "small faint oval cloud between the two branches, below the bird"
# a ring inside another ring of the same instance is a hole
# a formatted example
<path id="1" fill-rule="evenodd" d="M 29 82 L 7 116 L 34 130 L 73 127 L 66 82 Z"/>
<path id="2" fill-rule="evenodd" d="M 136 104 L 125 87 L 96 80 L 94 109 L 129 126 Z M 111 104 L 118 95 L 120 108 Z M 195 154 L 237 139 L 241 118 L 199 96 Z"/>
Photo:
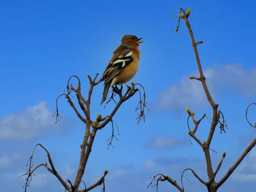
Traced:
<path id="1" fill-rule="evenodd" d="M 179 146 L 183 146 L 187 143 L 187 140 L 180 139 L 172 136 L 156 136 L 150 140 L 145 141 L 144 147 L 148 149 L 171 149 Z"/>

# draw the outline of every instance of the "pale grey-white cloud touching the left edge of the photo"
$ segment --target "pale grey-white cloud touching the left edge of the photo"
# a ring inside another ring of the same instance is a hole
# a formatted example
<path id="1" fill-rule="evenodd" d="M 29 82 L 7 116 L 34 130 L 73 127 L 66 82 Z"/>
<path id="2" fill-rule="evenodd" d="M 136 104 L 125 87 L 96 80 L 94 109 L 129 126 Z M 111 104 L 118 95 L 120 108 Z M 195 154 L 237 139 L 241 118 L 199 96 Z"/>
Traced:
<path id="1" fill-rule="evenodd" d="M 24 140 L 56 131 L 53 112 L 46 102 L 30 106 L 19 114 L 10 114 L 0 119 L 0 139 Z"/>

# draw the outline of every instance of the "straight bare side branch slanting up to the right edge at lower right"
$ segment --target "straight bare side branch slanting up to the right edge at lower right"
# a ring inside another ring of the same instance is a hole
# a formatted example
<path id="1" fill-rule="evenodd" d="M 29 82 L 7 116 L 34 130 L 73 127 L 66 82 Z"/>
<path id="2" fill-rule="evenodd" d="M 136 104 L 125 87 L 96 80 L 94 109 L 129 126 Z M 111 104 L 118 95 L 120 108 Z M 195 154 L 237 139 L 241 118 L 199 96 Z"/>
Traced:
<path id="1" fill-rule="evenodd" d="M 230 177 L 230 175 L 235 171 L 237 166 L 241 163 L 241 161 L 244 159 L 244 157 L 250 152 L 250 150 L 256 145 L 256 138 L 253 140 L 252 143 L 244 150 L 244 152 L 241 154 L 241 156 L 238 158 L 236 163 L 234 163 L 233 166 L 230 167 L 230 169 L 227 171 L 226 175 L 217 183 L 217 188 L 219 188 L 227 179 Z"/>

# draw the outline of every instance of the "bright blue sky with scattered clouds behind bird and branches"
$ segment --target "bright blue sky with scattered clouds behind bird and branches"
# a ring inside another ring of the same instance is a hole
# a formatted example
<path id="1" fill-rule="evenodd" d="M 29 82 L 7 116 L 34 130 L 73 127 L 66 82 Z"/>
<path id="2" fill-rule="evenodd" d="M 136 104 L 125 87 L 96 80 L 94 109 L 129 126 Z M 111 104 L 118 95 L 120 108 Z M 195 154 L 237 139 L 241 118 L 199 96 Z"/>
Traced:
<path id="1" fill-rule="evenodd" d="M 195 111 L 196 118 L 204 113 L 211 116 L 211 108 L 201 84 L 188 79 L 198 72 L 185 24 L 181 23 L 180 35 L 172 33 L 178 7 L 194 10 L 189 19 L 196 41 L 204 41 L 198 50 L 207 84 L 229 128 L 226 134 L 216 130 L 211 147 L 218 151 L 211 154 L 214 167 L 227 152 L 220 179 L 256 136 L 245 120 L 245 109 L 256 98 L 255 5 L 252 0 L 0 1 L 1 186 L 23 191 L 25 178 L 18 176 L 26 172 L 36 143 L 52 154 L 64 180 L 74 180 L 84 125 L 65 98 L 59 100 L 63 118 L 55 124 L 55 99 L 72 75 L 79 76 L 86 95 L 86 75 L 102 75 L 124 34 L 144 38 L 140 69 L 133 81 L 145 87 L 150 111 L 145 113 L 146 122 L 137 125 L 138 95 L 121 106 L 113 118 L 120 131 L 118 141 L 113 142 L 115 148 L 107 150 L 108 125 L 97 133 L 84 182 L 90 186 L 105 169 L 109 170 L 107 191 L 113 192 L 151 192 L 146 187 L 150 176 L 162 172 L 179 181 L 188 167 L 206 178 L 204 154 L 195 142 L 189 144 L 185 108 Z M 72 83 L 76 84 L 75 79 Z M 99 105 L 102 91 L 102 84 L 93 91 L 92 118 L 99 113 L 108 115 L 114 107 L 114 103 L 106 108 Z M 253 111 L 251 114 L 253 118 Z M 200 124 L 198 138 L 206 140 L 209 125 L 207 120 Z M 252 192 L 255 159 L 253 149 L 219 191 L 232 188 L 239 192 L 246 187 Z M 46 161 L 46 154 L 38 148 L 35 163 Z M 196 181 L 192 175 L 189 178 Z M 189 191 L 205 190 L 198 182 L 185 185 Z M 42 168 L 29 191 L 45 189 L 63 188 Z M 167 189 L 174 187 L 160 184 L 160 191 Z M 94 189 L 100 190 L 101 186 Z"/>

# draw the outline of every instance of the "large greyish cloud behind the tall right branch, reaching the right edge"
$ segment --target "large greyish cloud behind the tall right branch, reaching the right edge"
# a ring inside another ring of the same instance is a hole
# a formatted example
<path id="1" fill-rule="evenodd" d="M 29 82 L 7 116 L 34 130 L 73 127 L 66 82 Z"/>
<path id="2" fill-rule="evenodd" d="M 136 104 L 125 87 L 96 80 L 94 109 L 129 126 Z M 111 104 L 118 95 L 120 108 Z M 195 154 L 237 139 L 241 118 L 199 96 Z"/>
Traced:
<path id="1" fill-rule="evenodd" d="M 194 72 L 189 76 L 198 76 Z M 207 102 L 200 81 L 190 80 L 184 76 L 178 84 L 171 84 L 168 89 L 157 96 L 157 108 L 161 110 L 184 110 L 184 108 L 201 109 Z M 242 96 L 256 96 L 256 68 L 244 69 L 241 64 L 218 65 L 204 70 L 207 87 L 211 95 L 216 98 L 218 91 L 232 89 Z"/>

